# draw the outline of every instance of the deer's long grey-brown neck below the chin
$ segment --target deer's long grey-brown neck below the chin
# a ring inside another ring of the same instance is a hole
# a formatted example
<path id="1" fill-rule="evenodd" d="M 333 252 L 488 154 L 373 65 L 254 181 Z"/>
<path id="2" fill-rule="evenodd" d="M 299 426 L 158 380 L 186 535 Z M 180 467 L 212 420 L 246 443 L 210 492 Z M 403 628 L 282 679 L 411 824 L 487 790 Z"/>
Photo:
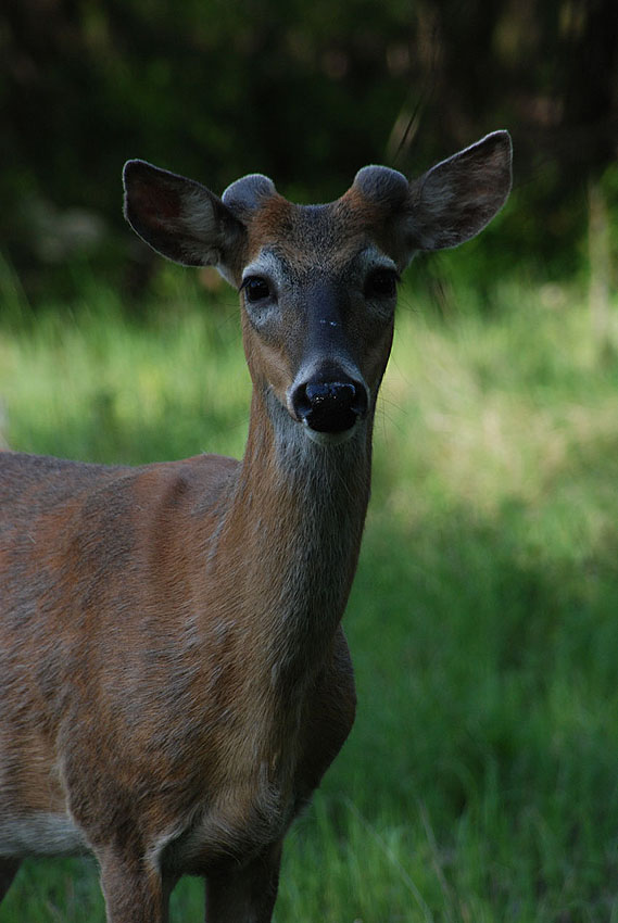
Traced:
<path id="1" fill-rule="evenodd" d="M 370 431 L 367 420 L 340 445 L 316 444 L 272 395 L 254 392 L 220 542 L 240 549 L 232 589 L 245 594 L 272 669 L 318 667 L 331 646 L 358 558 Z"/>

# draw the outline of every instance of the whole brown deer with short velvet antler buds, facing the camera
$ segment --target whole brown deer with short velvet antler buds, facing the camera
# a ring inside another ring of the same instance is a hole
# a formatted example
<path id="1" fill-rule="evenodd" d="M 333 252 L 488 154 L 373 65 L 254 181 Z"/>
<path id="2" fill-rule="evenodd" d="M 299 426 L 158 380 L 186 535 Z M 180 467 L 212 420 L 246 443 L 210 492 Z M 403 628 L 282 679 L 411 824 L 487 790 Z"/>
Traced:
<path id="1" fill-rule="evenodd" d="M 184 874 L 209 923 L 267 923 L 281 844 L 354 719 L 340 620 L 369 496 L 396 285 L 510 189 L 505 131 L 327 205 L 265 176 L 219 199 L 129 161 L 125 214 L 240 291 L 241 462 L 0 455 L 0 896 L 26 856 L 91 850 L 110 923 L 161 923 Z"/>

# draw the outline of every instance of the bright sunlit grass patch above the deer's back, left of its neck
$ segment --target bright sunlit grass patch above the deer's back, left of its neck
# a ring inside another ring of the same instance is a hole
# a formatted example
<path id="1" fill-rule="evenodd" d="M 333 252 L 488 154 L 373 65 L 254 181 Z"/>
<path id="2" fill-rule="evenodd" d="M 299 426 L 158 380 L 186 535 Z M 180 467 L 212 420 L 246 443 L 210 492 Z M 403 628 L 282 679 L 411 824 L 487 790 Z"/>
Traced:
<path id="1" fill-rule="evenodd" d="M 241 454 L 250 385 L 234 300 L 187 309 L 188 285 L 143 324 L 104 294 L 14 339 L 0 332 L 11 445 L 129 464 Z"/>

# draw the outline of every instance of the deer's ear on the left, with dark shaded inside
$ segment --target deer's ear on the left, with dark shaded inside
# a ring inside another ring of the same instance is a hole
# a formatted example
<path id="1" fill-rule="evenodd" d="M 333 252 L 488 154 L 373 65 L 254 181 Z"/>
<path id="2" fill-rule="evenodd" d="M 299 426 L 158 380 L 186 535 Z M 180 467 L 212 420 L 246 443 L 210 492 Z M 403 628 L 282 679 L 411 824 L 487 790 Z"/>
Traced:
<path id="1" fill-rule="evenodd" d="M 244 226 L 210 189 L 146 161 L 127 161 L 123 184 L 125 218 L 153 250 L 185 266 L 234 275 Z"/>

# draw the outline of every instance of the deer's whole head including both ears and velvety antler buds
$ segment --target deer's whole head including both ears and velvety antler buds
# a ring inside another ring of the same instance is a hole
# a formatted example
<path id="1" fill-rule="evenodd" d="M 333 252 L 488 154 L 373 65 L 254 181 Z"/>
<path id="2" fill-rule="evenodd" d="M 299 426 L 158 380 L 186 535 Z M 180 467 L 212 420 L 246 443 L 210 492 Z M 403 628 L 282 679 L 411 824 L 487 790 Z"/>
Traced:
<path id="1" fill-rule="evenodd" d="M 239 289 L 256 392 L 332 444 L 373 418 L 400 274 L 416 251 L 454 246 L 493 217 L 510 189 L 510 140 L 494 132 L 412 184 L 365 167 L 327 205 L 294 205 L 258 174 L 222 199 L 142 161 L 124 178 L 125 214 L 148 243 L 214 264 Z"/>

